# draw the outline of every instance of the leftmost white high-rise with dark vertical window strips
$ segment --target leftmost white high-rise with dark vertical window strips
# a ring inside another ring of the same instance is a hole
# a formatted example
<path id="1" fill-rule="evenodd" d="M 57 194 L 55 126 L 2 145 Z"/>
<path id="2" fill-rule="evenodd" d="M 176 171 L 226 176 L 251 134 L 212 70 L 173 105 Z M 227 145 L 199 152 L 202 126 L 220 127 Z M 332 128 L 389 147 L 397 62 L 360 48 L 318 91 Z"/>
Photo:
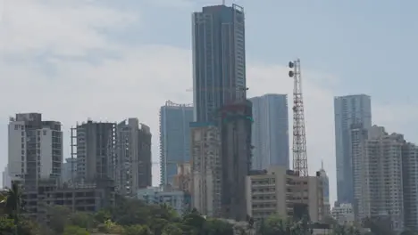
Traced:
<path id="1" fill-rule="evenodd" d="M 9 122 L 8 173 L 12 180 L 60 178 L 63 165 L 61 123 L 40 113 L 16 114 Z"/>

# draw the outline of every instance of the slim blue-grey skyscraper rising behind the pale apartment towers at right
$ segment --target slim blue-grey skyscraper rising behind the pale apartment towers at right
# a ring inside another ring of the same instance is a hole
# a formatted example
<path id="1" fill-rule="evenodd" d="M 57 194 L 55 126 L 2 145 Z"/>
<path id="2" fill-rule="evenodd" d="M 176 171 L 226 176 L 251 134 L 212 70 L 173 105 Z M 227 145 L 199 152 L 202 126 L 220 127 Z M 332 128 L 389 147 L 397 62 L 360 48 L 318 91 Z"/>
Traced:
<path id="1" fill-rule="evenodd" d="M 354 203 L 351 126 L 372 126 L 371 98 L 365 94 L 334 98 L 337 192 L 339 203 Z"/>

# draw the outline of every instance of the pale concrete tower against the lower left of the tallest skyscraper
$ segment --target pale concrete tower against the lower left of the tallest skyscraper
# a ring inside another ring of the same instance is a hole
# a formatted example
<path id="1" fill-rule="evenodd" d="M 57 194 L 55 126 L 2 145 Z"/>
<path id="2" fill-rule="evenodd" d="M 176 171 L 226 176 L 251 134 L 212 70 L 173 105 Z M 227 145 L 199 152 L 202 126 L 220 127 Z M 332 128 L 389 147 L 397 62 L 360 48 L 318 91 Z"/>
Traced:
<path id="1" fill-rule="evenodd" d="M 222 215 L 222 156 L 218 126 L 191 123 L 192 203 L 202 215 Z"/>

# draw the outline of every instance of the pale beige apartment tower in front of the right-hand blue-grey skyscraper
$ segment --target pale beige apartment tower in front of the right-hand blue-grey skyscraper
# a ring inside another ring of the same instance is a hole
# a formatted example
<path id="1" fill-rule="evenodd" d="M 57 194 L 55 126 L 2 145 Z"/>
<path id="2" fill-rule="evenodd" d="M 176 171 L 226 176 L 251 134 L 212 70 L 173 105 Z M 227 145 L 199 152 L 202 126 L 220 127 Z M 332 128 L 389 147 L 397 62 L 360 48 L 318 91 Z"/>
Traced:
<path id="1" fill-rule="evenodd" d="M 352 153 L 357 219 L 386 217 L 394 231 L 404 229 L 402 134 L 387 134 L 384 127 L 367 132 L 352 126 Z"/>

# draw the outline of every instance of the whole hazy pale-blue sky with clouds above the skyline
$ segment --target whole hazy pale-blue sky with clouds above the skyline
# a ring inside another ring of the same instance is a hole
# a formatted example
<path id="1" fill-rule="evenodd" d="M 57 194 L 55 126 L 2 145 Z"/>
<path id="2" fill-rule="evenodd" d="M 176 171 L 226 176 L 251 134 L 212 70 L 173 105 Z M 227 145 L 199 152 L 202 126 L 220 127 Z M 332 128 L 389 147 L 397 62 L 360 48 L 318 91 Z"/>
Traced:
<path id="1" fill-rule="evenodd" d="M 61 121 L 66 154 L 77 121 L 139 118 L 151 126 L 157 161 L 158 109 L 192 99 L 191 12 L 221 2 L 0 0 L 0 167 L 16 112 Z M 309 170 L 324 160 L 331 200 L 334 96 L 370 94 L 373 123 L 418 142 L 417 1 L 235 3 L 246 12 L 249 96 L 291 94 L 285 66 L 302 61 Z"/>

